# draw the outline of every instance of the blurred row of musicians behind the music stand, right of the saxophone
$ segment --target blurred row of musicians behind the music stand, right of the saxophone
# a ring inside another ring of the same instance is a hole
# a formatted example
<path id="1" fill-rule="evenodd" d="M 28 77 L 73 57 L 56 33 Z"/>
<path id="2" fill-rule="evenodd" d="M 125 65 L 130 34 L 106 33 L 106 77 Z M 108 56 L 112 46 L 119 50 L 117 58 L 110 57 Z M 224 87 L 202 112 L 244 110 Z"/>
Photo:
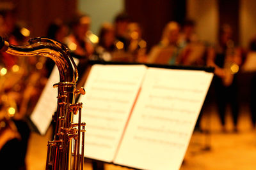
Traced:
<path id="1" fill-rule="evenodd" d="M 49 38 L 67 45 L 72 56 L 80 60 L 80 75 L 86 71 L 88 60 L 214 67 L 212 84 L 223 131 L 226 131 L 226 110 L 230 104 L 234 131 L 237 132 L 237 73 L 241 69 L 255 70 L 255 55 L 252 55 L 255 40 L 252 39 L 248 49 L 241 48 L 233 39 L 232 27 L 222 25 L 218 43 L 209 45 L 198 38 L 193 20 L 186 20 L 184 23 L 170 21 L 165 25 L 159 43 L 148 49 L 140 23 L 133 22 L 126 13 L 116 15 L 113 23 L 103 23 L 99 36 L 90 31 L 90 24 L 90 16 L 79 14 L 69 24 L 54 22 L 48 30 Z M 248 55 L 253 57 L 247 57 Z M 252 95 L 252 102 L 253 99 Z M 251 106 L 252 125 L 255 127 L 256 109 L 253 104 Z M 199 122 L 196 125 L 200 127 Z"/>

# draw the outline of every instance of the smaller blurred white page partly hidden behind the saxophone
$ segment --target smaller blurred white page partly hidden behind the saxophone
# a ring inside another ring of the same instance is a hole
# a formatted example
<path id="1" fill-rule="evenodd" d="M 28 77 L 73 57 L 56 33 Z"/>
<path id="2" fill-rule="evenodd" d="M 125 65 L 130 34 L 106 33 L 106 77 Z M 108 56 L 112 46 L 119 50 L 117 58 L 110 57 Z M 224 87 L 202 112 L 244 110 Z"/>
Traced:
<path id="1" fill-rule="evenodd" d="M 78 59 L 74 59 L 76 64 L 79 63 Z M 40 134 L 45 134 L 49 125 L 52 122 L 52 115 L 57 110 L 58 105 L 58 88 L 53 85 L 60 82 L 60 73 L 58 67 L 55 65 L 52 73 L 42 91 L 38 102 L 30 116 L 33 124 L 36 125 Z"/>

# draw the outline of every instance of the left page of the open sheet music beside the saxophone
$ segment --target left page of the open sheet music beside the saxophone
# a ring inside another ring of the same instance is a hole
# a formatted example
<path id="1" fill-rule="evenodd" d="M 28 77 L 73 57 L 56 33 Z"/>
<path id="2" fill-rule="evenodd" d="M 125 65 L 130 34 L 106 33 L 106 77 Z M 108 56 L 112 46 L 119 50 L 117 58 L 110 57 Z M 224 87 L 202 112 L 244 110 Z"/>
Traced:
<path id="1" fill-rule="evenodd" d="M 86 122 L 84 155 L 112 162 L 147 67 L 94 65 L 79 97 Z"/>

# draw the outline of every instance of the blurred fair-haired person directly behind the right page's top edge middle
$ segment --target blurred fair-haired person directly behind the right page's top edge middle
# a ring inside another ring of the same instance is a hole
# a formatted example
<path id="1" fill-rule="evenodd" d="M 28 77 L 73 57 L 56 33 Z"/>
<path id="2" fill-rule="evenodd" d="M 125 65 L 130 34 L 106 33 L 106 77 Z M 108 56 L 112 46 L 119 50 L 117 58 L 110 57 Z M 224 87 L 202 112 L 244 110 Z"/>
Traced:
<path id="1" fill-rule="evenodd" d="M 177 22 L 172 21 L 166 24 L 159 45 L 153 46 L 148 54 L 148 62 L 176 64 L 183 48 L 179 45 L 179 33 L 180 25 Z"/>

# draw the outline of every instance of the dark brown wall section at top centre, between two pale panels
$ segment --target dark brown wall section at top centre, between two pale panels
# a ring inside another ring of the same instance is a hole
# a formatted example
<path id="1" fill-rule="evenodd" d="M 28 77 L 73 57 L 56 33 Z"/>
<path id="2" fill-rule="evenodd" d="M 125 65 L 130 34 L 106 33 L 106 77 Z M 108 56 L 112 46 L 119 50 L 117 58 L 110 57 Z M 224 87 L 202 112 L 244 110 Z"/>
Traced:
<path id="1" fill-rule="evenodd" d="M 182 23 L 186 15 L 186 0 L 125 0 L 125 10 L 134 22 L 140 23 L 147 48 L 161 40 L 164 26 L 170 21 Z"/>

